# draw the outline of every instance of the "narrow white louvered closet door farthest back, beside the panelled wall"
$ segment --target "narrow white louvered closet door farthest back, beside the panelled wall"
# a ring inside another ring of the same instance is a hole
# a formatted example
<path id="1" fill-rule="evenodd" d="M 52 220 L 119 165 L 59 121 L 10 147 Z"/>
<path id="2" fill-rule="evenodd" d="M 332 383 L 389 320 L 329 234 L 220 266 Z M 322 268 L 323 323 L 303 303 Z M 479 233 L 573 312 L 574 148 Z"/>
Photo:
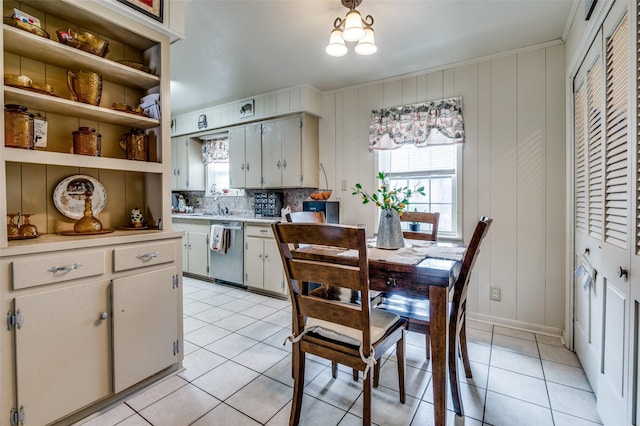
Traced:
<path id="1" fill-rule="evenodd" d="M 601 257 L 604 210 L 602 32 L 598 34 L 573 82 L 575 264 Z M 600 374 L 602 323 L 599 277 L 589 285 L 574 282 L 574 350 L 595 388 Z"/>

